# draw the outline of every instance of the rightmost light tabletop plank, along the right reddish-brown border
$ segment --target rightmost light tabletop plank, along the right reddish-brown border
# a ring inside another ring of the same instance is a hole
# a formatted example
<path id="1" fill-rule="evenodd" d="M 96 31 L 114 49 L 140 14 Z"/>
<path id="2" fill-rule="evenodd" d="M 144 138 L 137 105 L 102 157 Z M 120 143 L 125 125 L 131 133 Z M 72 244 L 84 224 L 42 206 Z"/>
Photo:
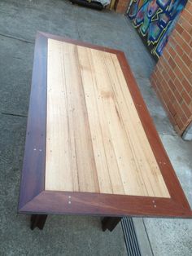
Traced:
<path id="1" fill-rule="evenodd" d="M 116 107 L 118 108 L 119 106 L 124 129 L 129 138 L 135 162 L 137 163 L 137 170 L 139 170 L 142 183 L 145 184 L 147 194 L 149 196 L 169 197 L 168 189 L 125 82 L 119 60 L 116 55 L 108 55 L 106 53 L 103 53 L 103 55 L 107 64 L 107 72 L 111 77 L 111 86 L 116 95 Z"/>

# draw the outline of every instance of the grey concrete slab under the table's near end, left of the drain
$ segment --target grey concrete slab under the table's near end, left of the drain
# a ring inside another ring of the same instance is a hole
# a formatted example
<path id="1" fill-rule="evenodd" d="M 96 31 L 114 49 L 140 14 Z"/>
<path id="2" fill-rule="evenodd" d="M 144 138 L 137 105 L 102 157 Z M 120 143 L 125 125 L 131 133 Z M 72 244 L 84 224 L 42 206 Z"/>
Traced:
<path id="1" fill-rule="evenodd" d="M 49 216 L 41 232 L 17 214 L 27 118 L 0 115 L 0 255 L 126 255 L 121 226 L 103 232 L 100 218 Z"/>

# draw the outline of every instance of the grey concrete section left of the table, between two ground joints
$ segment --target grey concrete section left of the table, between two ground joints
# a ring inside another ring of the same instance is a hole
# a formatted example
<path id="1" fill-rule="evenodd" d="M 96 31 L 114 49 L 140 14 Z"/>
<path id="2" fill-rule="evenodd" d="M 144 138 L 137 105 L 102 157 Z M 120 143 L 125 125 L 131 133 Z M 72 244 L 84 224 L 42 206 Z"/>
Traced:
<path id="1" fill-rule="evenodd" d="M 27 115 L 34 45 L 0 36 L 0 111 Z"/>

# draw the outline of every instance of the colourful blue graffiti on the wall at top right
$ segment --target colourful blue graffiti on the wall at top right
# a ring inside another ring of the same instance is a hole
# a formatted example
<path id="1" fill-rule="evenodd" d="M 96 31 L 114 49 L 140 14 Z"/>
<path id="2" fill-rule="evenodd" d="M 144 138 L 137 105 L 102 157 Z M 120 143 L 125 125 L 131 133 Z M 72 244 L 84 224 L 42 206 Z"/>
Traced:
<path id="1" fill-rule="evenodd" d="M 131 0 L 129 19 L 159 58 L 187 0 Z"/>

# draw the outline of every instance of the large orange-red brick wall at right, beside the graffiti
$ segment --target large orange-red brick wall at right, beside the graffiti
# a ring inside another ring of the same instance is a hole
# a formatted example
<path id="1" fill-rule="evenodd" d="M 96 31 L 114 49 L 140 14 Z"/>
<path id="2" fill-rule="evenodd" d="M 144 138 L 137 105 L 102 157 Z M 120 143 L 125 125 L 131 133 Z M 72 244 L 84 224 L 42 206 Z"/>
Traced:
<path id="1" fill-rule="evenodd" d="M 181 135 L 192 121 L 192 0 L 181 12 L 151 83 Z"/>

